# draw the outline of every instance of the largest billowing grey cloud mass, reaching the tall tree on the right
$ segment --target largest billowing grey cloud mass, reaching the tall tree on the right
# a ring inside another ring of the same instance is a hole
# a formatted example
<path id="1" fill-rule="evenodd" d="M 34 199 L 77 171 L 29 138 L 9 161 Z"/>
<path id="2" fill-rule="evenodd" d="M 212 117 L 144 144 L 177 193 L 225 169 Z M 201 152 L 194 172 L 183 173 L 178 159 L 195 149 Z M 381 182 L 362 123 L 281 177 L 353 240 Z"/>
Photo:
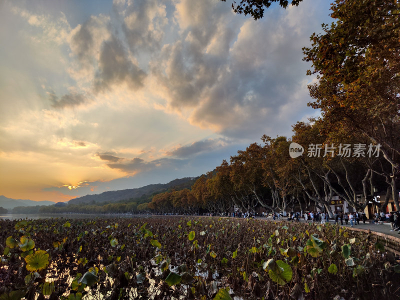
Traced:
<path id="1" fill-rule="evenodd" d="M 184 112 L 191 124 L 234 138 L 289 133 L 287 110 L 281 108 L 306 107 L 301 47 L 324 18 L 316 13 L 323 5 L 304 1 L 301 10 L 271 8 L 254 21 L 212 1 L 178 2 L 181 37 L 151 62 L 152 75 L 163 86 L 164 109 Z M 301 30 L 288 21 L 293 14 L 308 19 Z M 310 110 L 291 111 L 290 118 L 295 122 Z"/>

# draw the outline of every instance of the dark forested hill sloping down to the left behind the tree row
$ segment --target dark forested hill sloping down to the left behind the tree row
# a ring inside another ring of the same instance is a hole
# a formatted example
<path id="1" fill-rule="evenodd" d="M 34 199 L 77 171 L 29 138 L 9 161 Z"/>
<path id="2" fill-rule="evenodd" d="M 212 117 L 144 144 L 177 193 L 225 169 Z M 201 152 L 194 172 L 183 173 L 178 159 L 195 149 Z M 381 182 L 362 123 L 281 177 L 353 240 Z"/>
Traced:
<path id="1" fill-rule="evenodd" d="M 172 188 L 175 188 L 176 190 L 186 187 L 188 188 L 194 183 L 195 179 L 197 179 L 197 177 L 196 178 L 185 177 L 180 179 L 174 179 L 164 184 L 157 183 L 157 184 L 149 184 L 139 188 L 109 190 L 109 191 L 104 191 L 100 194 L 85 195 L 78 198 L 70 199 L 68 201 L 68 204 L 78 204 L 78 203 L 89 204 L 92 202 L 96 203 L 118 202 L 122 200 L 129 200 L 141 197 L 143 195 L 151 195 L 154 193 L 164 192 Z"/>

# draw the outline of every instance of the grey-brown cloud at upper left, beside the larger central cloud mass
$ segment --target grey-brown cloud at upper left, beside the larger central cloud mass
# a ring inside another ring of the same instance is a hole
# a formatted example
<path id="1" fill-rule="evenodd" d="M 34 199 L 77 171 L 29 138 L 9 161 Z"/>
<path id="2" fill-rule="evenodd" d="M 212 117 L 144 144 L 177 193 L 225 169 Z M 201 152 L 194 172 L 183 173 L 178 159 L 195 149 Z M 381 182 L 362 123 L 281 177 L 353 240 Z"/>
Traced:
<path id="1" fill-rule="evenodd" d="M 122 84 L 136 90 L 146 77 L 125 41 L 112 33 L 112 28 L 110 16 L 100 14 L 71 30 L 69 46 L 76 61 L 70 74 L 91 85 L 95 94 Z"/>

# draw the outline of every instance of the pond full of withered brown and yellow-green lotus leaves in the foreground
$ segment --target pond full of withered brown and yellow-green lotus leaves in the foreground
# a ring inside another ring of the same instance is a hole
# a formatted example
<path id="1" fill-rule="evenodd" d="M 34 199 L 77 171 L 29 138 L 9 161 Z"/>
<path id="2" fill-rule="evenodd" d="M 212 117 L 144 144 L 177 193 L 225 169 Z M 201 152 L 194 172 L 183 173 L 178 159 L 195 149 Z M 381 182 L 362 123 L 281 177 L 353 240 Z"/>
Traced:
<path id="1" fill-rule="evenodd" d="M 230 218 L 0 220 L 0 299 L 400 299 L 371 233 Z"/>

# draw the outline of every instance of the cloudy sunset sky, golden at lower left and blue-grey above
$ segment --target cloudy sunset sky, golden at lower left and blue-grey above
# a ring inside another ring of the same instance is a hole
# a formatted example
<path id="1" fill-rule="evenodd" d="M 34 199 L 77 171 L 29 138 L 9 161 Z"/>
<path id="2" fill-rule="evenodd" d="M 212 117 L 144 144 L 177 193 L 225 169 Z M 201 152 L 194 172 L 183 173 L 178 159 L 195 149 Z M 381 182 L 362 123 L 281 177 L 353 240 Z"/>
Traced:
<path id="1" fill-rule="evenodd" d="M 67 201 L 195 177 L 307 107 L 327 0 L 0 0 L 0 194 Z"/>

